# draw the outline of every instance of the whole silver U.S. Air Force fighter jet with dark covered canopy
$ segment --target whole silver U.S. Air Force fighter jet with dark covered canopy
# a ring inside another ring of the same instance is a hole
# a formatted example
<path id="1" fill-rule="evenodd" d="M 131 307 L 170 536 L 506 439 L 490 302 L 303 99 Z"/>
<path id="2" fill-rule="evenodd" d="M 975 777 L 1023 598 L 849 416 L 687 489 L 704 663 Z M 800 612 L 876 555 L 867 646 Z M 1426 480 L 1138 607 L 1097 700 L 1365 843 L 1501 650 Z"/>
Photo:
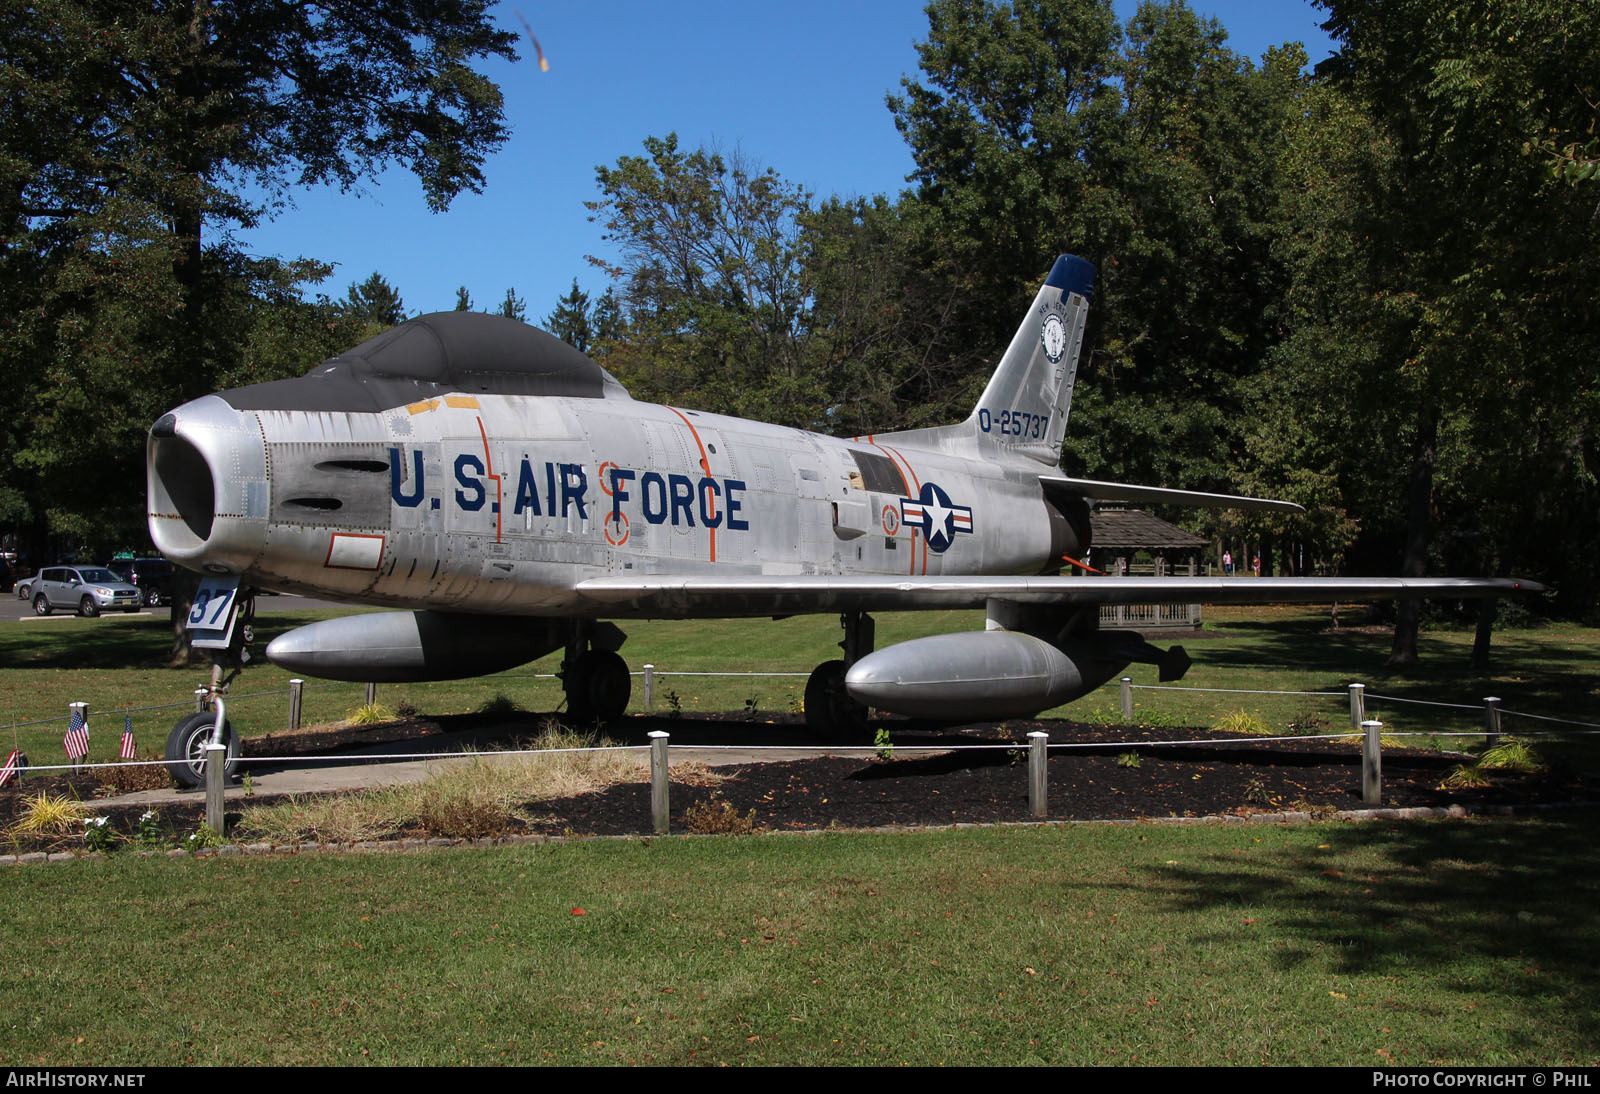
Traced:
<path id="1" fill-rule="evenodd" d="M 867 707 L 973 720 L 1077 699 L 1181 648 L 1102 632 L 1101 605 L 1494 597 L 1515 581 L 1059 576 L 1102 499 L 1298 510 L 1282 501 L 1072 478 L 1059 467 L 1094 267 L 1061 256 L 965 422 L 835 438 L 640 403 L 525 323 L 405 321 L 299 379 L 206 395 L 150 429 L 149 526 L 205 574 L 197 645 L 240 590 L 394 608 L 274 640 L 334 680 L 498 672 L 565 649 L 568 709 L 629 699 L 614 621 L 838 613 L 806 720 Z M 870 611 L 984 608 L 986 630 L 874 649 Z M 192 757 L 198 731 L 168 744 Z"/>

